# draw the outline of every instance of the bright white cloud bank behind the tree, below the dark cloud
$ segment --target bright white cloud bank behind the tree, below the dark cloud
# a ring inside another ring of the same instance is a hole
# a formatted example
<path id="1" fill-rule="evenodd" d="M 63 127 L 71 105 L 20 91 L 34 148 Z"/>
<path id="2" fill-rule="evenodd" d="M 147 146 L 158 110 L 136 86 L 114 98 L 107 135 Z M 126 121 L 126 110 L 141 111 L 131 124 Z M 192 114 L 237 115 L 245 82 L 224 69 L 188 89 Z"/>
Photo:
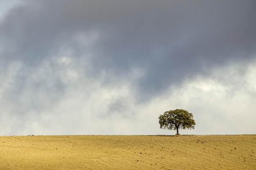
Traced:
<path id="1" fill-rule="evenodd" d="M 22 66 L 20 62 L 10 64 L 7 74 L 1 78 L 5 82 L 1 91 L 8 91 L 15 84 L 15 75 Z M 232 92 L 233 85 L 227 83 L 229 79 L 227 82 L 220 81 L 236 72 L 236 63 L 218 69 L 225 70 L 225 74 L 218 75 L 218 79 L 213 70 L 207 77 L 198 75 L 187 79 L 182 86 L 170 86 L 165 94 L 149 102 L 137 103 L 132 88 L 132 82 L 136 79 L 132 75 L 126 81 L 104 85 L 103 78 L 93 79 L 86 73 L 80 73 L 79 60 L 57 57 L 43 62 L 33 72 L 26 73 L 22 93 L 17 96 L 18 103 L 11 103 L 1 95 L 1 102 L 5 106 L 1 108 L 1 113 L 4 113 L 1 124 L 6 127 L 1 130 L 1 134 L 174 134 L 174 131 L 159 129 L 158 117 L 176 108 L 193 113 L 196 122 L 195 130 L 182 130 L 182 134 L 255 133 L 255 62 L 248 64 L 245 73 L 237 75 L 236 79 L 243 82 L 244 86 L 236 88 L 236 92 Z M 74 74 L 70 75 L 70 70 Z M 135 74 L 135 77 L 138 75 L 137 71 L 131 74 Z M 105 76 L 109 75 L 105 73 Z M 67 86 L 55 92 L 52 88 L 58 90 L 55 87 L 58 77 Z M 40 86 L 35 88 L 36 82 L 40 82 Z M 46 88 L 43 88 L 42 83 Z M 58 93 L 63 95 L 57 95 L 58 98 L 53 100 Z M 37 107 L 33 108 L 31 104 Z M 9 119 L 8 114 L 19 111 L 23 114 L 20 119 Z"/>

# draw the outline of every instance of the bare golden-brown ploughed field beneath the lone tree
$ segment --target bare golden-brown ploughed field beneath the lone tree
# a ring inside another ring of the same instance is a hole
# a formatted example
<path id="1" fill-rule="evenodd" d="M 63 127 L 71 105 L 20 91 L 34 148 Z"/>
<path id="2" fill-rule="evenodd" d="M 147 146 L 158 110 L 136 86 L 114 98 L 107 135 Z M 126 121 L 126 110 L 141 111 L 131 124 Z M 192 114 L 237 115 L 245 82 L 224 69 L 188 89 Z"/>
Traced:
<path id="1" fill-rule="evenodd" d="M 256 170 L 256 135 L 2 136 L 0 170 Z"/>

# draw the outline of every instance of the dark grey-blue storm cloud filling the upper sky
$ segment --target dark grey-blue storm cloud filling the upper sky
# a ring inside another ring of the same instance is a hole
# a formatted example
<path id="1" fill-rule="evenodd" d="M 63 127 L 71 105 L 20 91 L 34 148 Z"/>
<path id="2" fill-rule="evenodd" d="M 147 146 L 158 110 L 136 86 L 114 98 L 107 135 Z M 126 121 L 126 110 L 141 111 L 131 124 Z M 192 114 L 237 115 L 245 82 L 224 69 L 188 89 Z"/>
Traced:
<path id="1" fill-rule="evenodd" d="M 90 74 L 106 72 L 106 82 L 114 77 L 110 84 L 140 68 L 144 75 L 133 85 L 145 101 L 205 68 L 251 59 L 255 17 L 254 0 L 27 0 L 1 22 L 1 57 L 33 71 L 66 51 L 91 55 Z M 77 41 L 90 41 L 92 32 L 98 35 L 92 44 Z M 20 76 L 16 87 L 26 79 Z"/>

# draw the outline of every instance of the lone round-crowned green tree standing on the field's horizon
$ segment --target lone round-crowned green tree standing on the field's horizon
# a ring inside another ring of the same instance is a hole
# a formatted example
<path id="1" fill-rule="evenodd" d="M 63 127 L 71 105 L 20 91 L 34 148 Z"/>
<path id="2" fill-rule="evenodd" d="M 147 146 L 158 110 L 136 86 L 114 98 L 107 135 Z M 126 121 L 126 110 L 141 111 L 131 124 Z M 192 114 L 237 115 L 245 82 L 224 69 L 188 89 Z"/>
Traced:
<path id="1" fill-rule="evenodd" d="M 192 113 L 182 109 L 166 111 L 158 119 L 161 129 L 177 130 L 176 135 L 180 135 L 179 129 L 194 129 L 195 126 Z"/>

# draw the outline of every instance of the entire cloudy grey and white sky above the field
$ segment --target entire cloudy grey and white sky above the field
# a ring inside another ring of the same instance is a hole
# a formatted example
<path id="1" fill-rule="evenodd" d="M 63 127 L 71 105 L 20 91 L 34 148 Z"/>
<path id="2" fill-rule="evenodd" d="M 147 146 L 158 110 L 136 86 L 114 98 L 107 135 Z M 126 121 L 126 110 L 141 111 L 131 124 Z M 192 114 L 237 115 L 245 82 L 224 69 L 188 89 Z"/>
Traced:
<path id="1" fill-rule="evenodd" d="M 255 0 L 0 0 L 0 135 L 256 134 Z"/>

